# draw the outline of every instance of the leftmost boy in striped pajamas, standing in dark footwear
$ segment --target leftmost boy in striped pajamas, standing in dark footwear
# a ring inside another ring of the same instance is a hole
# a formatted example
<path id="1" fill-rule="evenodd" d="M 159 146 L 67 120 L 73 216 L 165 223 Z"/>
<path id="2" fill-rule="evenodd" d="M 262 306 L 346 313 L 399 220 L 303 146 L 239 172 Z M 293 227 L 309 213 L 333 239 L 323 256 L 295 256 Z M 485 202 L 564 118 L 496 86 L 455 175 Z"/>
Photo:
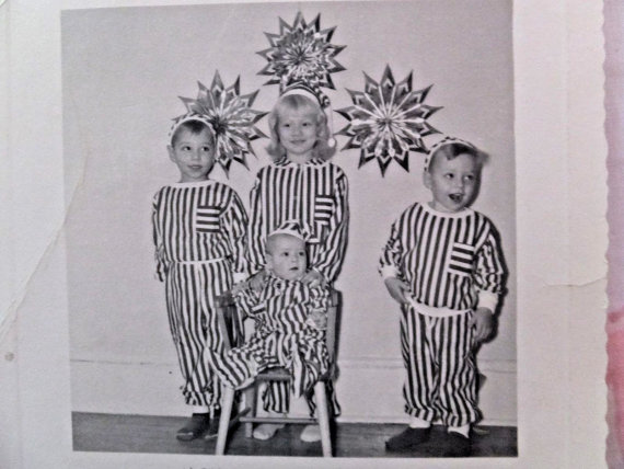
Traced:
<path id="1" fill-rule="evenodd" d="M 169 146 L 178 183 L 162 187 L 152 208 L 157 274 L 165 283 L 166 309 L 193 415 L 176 437 L 217 434 L 220 381 L 201 359 L 222 350 L 215 299 L 244 278 L 247 217 L 236 193 L 208 179 L 215 164 L 215 133 L 203 115 L 175 121 Z M 212 413 L 212 419 L 210 419 Z"/>

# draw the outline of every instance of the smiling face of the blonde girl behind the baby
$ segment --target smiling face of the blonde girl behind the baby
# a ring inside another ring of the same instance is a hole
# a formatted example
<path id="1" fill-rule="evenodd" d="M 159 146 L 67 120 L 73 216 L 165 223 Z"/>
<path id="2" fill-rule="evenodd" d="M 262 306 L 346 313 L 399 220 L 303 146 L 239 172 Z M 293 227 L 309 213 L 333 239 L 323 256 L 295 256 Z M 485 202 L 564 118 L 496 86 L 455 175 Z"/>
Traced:
<path id="1" fill-rule="evenodd" d="M 286 149 L 286 157 L 296 162 L 305 162 L 312 158 L 312 148 L 316 144 L 316 113 L 314 110 L 300 107 L 285 108 L 279 113 L 277 135 Z"/>

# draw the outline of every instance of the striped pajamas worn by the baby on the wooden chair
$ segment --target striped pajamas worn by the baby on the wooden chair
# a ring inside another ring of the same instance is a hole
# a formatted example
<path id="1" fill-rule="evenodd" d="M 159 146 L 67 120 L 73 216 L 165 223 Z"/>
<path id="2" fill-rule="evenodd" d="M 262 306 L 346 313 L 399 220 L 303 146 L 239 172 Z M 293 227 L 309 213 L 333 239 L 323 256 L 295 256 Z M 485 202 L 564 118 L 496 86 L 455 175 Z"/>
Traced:
<path id="1" fill-rule="evenodd" d="M 328 290 L 299 281 L 269 276 L 259 293 L 252 289 L 236 296 L 239 310 L 255 322 L 250 340 L 224 354 L 207 351 L 207 359 L 219 377 L 232 388 L 245 387 L 267 368 L 284 366 L 293 379 L 276 388 L 281 394 L 279 412 L 288 412 L 290 391 L 304 396 L 313 411 L 311 390 L 330 367 L 325 332 L 307 322 L 312 311 L 327 310 Z M 269 387 L 270 389 L 270 387 Z M 266 392 L 266 391 L 265 391 Z M 264 398 L 263 398 L 264 399 Z"/>

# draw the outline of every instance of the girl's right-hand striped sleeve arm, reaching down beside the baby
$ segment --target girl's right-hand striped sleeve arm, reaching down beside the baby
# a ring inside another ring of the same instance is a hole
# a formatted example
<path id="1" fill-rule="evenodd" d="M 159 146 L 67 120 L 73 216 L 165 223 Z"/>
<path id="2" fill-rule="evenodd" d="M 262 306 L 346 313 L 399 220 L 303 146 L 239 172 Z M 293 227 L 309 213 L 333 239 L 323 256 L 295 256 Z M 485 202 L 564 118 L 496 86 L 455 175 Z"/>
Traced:
<path id="1" fill-rule="evenodd" d="M 317 251 L 315 259 L 310 260 L 311 272 L 321 274 L 325 282 L 332 282 L 338 275 L 347 249 L 349 187 L 345 173 L 337 167 L 336 170 L 340 173 L 336 178 L 334 186 L 333 211 L 328 220 L 327 238 Z M 320 279 L 314 274 L 310 274 L 309 277 Z"/>

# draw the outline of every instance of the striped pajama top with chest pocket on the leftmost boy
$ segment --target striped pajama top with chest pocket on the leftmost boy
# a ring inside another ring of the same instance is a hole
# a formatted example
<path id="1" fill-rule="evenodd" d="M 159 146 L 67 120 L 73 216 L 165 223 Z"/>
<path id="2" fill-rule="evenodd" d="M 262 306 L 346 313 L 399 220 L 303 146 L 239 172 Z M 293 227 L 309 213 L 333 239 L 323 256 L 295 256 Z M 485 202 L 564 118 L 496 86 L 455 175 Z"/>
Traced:
<path id="1" fill-rule="evenodd" d="M 175 262 L 229 260 L 244 273 L 247 216 L 238 194 L 216 181 L 165 185 L 154 196 L 152 229 L 157 276 Z"/>

